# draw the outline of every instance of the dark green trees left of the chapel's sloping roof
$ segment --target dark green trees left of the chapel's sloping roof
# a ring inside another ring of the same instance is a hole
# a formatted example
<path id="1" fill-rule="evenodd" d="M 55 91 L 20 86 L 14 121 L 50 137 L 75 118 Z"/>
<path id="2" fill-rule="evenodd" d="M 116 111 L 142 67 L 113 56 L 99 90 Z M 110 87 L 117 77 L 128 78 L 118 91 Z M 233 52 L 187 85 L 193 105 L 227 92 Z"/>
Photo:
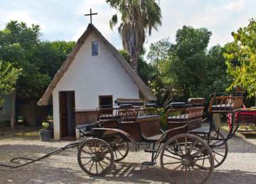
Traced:
<path id="1" fill-rule="evenodd" d="M 38 25 L 11 21 L 0 31 L 0 59 L 21 68 L 16 84 L 18 99 L 40 98 L 65 61 L 74 42 L 41 42 Z"/>

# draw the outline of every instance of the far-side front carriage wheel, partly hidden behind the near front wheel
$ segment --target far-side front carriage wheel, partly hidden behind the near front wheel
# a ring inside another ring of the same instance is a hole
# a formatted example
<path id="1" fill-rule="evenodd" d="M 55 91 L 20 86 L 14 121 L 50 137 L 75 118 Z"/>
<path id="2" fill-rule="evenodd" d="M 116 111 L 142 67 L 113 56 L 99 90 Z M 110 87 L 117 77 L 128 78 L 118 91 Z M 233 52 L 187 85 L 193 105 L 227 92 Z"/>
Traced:
<path id="1" fill-rule="evenodd" d="M 117 136 L 115 141 L 110 144 L 114 152 L 114 161 L 122 161 L 129 153 L 129 142 L 124 142 L 121 136 Z"/>

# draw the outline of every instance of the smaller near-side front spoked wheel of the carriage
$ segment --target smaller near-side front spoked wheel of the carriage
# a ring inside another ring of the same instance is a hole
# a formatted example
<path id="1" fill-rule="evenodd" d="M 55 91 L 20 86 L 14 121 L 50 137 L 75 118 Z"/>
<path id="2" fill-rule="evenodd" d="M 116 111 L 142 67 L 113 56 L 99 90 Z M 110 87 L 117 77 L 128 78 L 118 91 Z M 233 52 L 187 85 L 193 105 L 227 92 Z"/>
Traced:
<path id="1" fill-rule="evenodd" d="M 78 163 L 90 176 L 104 176 L 114 166 L 114 154 L 102 139 L 87 139 L 78 149 Z"/>

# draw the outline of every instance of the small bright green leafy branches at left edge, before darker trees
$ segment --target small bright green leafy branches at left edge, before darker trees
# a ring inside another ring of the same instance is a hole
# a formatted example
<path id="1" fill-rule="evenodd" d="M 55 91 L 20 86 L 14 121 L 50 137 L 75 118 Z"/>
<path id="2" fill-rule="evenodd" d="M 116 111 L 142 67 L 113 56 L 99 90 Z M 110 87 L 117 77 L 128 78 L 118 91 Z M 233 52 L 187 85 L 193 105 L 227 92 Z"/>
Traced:
<path id="1" fill-rule="evenodd" d="M 9 62 L 0 60 L 0 106 L 4 103 L 4 96 L 15 91 L 16 81 L 21 69 L 12 67 Z"/>

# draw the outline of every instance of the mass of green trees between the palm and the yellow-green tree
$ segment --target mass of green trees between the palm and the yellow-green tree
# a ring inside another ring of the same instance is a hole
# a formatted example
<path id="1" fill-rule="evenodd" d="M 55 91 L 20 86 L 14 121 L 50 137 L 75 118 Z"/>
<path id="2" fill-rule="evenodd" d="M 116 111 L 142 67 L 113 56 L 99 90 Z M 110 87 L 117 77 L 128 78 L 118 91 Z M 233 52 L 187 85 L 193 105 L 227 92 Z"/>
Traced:
<path id="1" fill-rule="evenodd" d="M 230 84 L 225 72 L 224 49 L 216 45 L 207 50 L 210 31 L 183 26 L 177 30 L 176 43 L 169 39 L 151 44 L 148 59 L 156 69 L 150 87 L 159 105 L 186 101 L 190 97 L 208 98 Z"/>

